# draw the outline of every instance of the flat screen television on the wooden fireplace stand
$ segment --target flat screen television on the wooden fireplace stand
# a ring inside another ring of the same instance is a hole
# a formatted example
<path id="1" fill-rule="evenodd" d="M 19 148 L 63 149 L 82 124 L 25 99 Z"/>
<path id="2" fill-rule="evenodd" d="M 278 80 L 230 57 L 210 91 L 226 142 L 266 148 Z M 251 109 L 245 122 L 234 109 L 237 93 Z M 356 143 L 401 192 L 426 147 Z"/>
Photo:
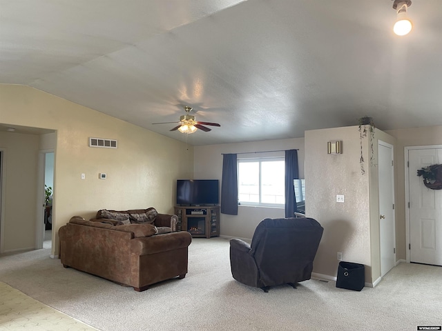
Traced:
<path id="1" fill-rule="evenodd" d="M 178 179 L 177 205 L 218 205 L 218 179 Z"/>

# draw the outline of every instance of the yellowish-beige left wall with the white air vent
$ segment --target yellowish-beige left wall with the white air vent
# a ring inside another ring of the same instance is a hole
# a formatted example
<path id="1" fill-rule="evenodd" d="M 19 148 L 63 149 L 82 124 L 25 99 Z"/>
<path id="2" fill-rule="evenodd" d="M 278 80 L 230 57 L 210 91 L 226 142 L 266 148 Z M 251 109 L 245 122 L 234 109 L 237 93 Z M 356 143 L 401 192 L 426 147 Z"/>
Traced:
<path id="1" fill-rule="evenodd" d="M 52 254 L 58 228 L 73 215 L 150 206 L 173 212 L 176 179 L 193 175 L 193 148 L 185 143 L 26 86 L 0 85 L 0 123 L 57 130 Z M 89 148 L 89 137 L 117 139 L 118 148 Z M 108 179 L 98 179 L 100 172 Z M 5 235 L 14 241 L 21 234 Z"/>

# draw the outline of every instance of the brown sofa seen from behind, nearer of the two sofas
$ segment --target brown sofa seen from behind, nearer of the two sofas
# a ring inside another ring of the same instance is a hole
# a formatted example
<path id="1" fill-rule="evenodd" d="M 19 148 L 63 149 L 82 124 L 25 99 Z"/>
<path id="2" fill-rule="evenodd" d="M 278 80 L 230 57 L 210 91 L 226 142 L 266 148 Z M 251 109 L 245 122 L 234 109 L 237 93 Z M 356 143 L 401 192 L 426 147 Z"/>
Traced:
<path id="1" fill-rule="evenodd" d="M 142 210 L 137 211 L 133 214 Z M 157 214 L 151 223 L 125 224 L 73 217 L 59 229 L 61 263 L 139 292 L 166 279 L 182 279 L 192 237 L 185 231 L 157 234 L 160 228 L 173 228 L 171 219 L 173 215 Z"/>

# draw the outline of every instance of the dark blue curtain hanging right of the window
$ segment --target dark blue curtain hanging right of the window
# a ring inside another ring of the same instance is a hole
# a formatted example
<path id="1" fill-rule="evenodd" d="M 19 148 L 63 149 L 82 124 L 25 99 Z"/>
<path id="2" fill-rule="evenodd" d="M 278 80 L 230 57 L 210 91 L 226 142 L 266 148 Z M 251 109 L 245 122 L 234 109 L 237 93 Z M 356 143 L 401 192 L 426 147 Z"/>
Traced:
<path id="1" fill-rule="evenodd" d="M 298 150 L 285 151 L 285 217 L 294 217 L 296 197 L 293 180 L 299 179 Z"/>

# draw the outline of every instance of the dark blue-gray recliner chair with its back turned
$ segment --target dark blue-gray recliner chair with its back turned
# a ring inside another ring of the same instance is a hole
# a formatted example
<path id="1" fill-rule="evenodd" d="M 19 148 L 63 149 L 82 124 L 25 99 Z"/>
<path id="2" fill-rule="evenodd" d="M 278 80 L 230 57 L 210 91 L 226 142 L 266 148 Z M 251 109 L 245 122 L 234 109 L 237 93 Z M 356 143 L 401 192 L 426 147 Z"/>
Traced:
<path id="1" fill-rule="evenodd" d="M 230 240 L 233 278 L 268 292 L 270 286 L 311 277 L 323 227 L 311 218 L 265 219 L 256 227 L 251 245 Z"/>

